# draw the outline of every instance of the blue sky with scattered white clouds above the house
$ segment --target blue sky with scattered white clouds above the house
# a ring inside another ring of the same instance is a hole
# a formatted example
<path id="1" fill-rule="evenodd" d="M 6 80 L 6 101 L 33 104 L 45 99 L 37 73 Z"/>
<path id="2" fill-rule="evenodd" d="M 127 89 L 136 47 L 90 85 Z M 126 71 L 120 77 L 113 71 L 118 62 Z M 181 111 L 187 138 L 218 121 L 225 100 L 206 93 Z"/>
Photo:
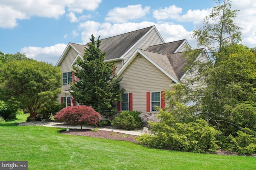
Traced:
<path id="1" fill-rule="evenodd" d="M 69 42 L 86 44 L 156 26 L 166 43 L 187 39 L 203 25 L 213 0 L 1 0 L 0 51 L 55 65 Z M 256 1 L 233 0 L 242 44 L 256 47 Z"/>

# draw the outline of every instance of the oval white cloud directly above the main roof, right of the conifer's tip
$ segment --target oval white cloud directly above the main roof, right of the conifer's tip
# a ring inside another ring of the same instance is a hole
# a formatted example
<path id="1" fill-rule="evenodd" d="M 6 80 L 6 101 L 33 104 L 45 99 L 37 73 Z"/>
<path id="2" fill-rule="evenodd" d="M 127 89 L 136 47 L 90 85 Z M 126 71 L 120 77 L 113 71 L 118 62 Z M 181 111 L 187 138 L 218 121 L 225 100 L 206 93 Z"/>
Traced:
<path id="1" fill-rule="evenodd" d="M 136 20 L 138 18 L 142 18 L 150 11 L 150 7 L 146 6 L 142 8 L 141 4 L 139 5 L 128 5 L 125 8 L 116 7 L 107 14 L 106 21 L 114 22 L 114 23 L 124 23 L 128 20 Z"/>

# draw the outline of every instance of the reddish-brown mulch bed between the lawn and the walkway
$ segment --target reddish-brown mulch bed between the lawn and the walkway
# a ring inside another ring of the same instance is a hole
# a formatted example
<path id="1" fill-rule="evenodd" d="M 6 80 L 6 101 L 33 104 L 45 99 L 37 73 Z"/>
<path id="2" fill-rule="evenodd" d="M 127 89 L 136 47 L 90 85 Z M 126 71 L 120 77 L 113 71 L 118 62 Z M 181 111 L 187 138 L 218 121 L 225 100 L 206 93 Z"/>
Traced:
<path id="1" fill-rule="evenodd" d="M 111 131 L 92 132 L 91 130 L 88 130 L 88 129 L 70 129 L 70 131 L 62 131 L 60 133 L 63 133 L 66 135 L 87 136 L 87 137 L 96 137 L 96 138 L 102 138 L 102 139 L 112 139 L 112 140 L 118 140 L 118 141 L 129 141 L 129 142 L 138 143 L 135 140 L 136 135 L 128 135 L 124 133 L 111 132 Z"/>

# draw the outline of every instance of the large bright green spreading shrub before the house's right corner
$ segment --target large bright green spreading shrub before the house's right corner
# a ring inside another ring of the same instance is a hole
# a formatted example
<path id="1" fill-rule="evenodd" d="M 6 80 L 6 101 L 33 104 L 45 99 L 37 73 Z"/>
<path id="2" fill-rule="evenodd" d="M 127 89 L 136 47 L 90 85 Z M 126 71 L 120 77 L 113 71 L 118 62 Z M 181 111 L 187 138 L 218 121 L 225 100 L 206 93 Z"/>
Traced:
<path id="1" fill-rule="evenodd" d="M 159 149 L 174 149 L 188 152 L 214 152 L 218 149 L 216 135 L 220 133 L 203 119 L 190 123 L 176 123 L 171 113 L 160 110 L 160 122 L 152 123 L 151 134 L 136 138 L 142 145 Z"/>

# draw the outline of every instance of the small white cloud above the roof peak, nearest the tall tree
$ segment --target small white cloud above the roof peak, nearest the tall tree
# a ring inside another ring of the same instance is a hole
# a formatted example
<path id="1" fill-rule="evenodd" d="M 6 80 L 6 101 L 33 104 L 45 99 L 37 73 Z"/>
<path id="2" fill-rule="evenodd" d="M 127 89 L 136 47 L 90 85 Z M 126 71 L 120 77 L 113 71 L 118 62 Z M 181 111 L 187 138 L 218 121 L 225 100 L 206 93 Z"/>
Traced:
<path id="1" fill-rule="evenodd" d="M 157 20 L 166 20 L 166 19 L 178 19 L 182 13 L 182 8 L 178 8 L 175 5 L 165 7 L 164 9 L 154 10 L 153 16 Z"/>

